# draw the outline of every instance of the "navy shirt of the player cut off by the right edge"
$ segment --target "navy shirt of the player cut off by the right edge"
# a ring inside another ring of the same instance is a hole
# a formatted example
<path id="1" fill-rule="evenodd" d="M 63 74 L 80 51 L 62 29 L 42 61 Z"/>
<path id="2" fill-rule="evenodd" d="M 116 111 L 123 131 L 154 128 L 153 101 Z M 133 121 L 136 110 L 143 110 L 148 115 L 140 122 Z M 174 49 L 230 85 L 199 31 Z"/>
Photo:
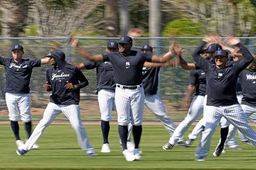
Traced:
<path id="1" fill-rule="evenodd" d="M 242 103 L 244 105 L 256 106 L 256 72 L 244 70 L 239 74 L 239 83 L 242 88 Z"/>

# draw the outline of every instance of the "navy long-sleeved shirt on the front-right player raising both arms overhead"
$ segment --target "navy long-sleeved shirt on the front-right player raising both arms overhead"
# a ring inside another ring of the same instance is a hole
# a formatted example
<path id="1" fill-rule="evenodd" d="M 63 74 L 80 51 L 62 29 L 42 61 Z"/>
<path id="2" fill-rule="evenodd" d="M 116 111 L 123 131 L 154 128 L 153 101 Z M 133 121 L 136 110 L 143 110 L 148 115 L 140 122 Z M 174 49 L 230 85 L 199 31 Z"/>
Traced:
<path id="1" fill-rule="evenodd" d="M 242 45 L 237 44 L 241 49 L 244 60 L 238 63 L 226 65 L 226 67 L 219 69 L 215 65 L 206 62 L 199 54 L 205 43 L 199 45 L 192 56 L 206 75 L 206 94 L 207 103 L 210 106 L 229 106 L 238 104 L 236 98 L 236 83 L 238 74 L 244 70 L 252 61 L 253 57 L 251 53 Z"/>

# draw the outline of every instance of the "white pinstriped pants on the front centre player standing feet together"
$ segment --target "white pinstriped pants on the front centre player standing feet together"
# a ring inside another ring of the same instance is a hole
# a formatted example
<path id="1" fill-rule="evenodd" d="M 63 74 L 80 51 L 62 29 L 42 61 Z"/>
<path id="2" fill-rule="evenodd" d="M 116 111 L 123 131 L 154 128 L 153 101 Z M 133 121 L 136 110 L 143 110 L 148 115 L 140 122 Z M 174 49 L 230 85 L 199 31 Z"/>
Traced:
<path id="1" fill-rule="evenodd" d="M 121 84 L 116 84 L 115 104 L 117 111 L 117 122 L 126 126 L 129 123 L 138 126 L 143 121 L 143 103 L 145 99 L 144 89 L 138 85 L 137 89 L 124 89 Z M 120 87 L 118 87 L 121 86 Z"/>

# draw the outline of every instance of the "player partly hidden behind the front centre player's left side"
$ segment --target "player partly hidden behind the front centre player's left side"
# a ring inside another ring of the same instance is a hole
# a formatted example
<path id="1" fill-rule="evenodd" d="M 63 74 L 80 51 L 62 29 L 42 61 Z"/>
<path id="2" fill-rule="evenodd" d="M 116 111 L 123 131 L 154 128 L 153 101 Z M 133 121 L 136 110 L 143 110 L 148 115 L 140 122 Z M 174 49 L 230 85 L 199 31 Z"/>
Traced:
<path id="1" fill-rule="evenodd" d="M 83 49 L 79 48 L 79 52 L 83 53 Z M 106 52 L 118 52 L 118 45 L 115 41 L 108 41 Z M 97 70 L 97 93 L 101 113 L 101 131 L 103 137 L 103 145 L 101 152 L 108 153 L 111 151 L 108 134 L 110 131 L 109 121 L 111 121 L 111 111 L 115 103 L 115 88 L 113 66 L 110 62 L 94 62 L 73 63 L 78 68 L 95 69 Z"/>

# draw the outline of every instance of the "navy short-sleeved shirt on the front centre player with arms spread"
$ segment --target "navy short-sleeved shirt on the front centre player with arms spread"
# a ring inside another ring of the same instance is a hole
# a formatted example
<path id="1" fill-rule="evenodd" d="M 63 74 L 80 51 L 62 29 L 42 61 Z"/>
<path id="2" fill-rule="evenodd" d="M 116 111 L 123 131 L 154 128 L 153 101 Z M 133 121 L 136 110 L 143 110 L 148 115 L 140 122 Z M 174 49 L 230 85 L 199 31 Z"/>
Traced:
<path id="1" fill-rule="evenodd" d="M 121 52 L 103 54 L 103 61 L 110 61 L 114 68 L 115 81 L 124 86 L 142 83 L 142 67 L 145 61 L 151 62 L 152 55 L 131 50 L 127 56 Z"/>

